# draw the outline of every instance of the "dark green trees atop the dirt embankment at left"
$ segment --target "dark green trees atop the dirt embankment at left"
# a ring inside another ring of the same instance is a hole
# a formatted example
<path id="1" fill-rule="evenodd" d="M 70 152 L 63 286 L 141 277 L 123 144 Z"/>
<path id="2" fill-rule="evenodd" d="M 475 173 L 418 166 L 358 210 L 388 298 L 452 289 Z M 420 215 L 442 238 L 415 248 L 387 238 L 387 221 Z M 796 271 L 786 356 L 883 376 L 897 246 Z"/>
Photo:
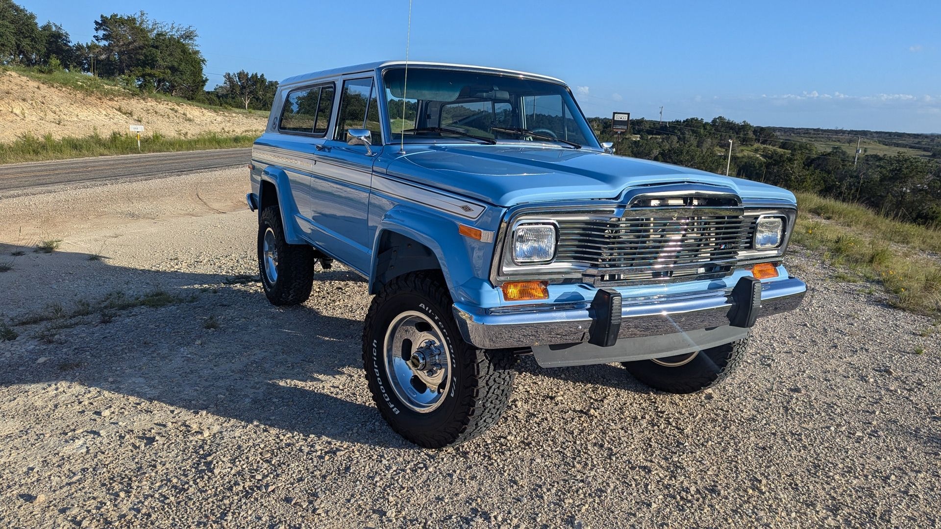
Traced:
<path id="1" fill-rule="evenodd" d="M 12 0 L 0 0 L 0 64 L 40 72 L 85 72 L 143 93 L 165 93 L 191 101 L 245 109 L 271 108 L 277 81 L 264 74 L 227 72 L 206 90 L 205 57 L 191 25 L 153 20 L 144 11 L 101 15 L 89 42 L 72 42 L 60 24 L 40 25 L 36 15 Z"/>

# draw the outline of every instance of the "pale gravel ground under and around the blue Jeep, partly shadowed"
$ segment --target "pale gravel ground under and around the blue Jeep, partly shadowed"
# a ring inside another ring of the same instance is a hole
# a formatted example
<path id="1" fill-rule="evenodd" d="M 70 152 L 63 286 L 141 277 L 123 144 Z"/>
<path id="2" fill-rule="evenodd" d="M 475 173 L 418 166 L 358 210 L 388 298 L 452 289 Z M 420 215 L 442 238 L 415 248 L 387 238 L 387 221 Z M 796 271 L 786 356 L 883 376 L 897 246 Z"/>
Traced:
<path id="1" fill-rule="evenodd" d="M 246 277 L 244 172 L 2 200 L 0 525 L 941 523 L 941 339 L 814 255 L 789 257 L 804 305 L 759 322 L 724 386 L 523 358 L 498 425 L 425 451 L 367 391 L 363 281 L 319 273 L 280 309 Z"/>

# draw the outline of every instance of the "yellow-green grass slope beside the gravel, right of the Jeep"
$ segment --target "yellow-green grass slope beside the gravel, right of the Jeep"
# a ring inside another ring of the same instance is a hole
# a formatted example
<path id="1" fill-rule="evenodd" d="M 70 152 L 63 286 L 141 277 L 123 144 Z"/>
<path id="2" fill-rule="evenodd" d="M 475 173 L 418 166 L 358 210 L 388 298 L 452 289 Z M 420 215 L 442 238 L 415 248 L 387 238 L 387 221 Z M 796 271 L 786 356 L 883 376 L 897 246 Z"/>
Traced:
<path id="1" fill-rule="evenodd" d="M 798 204 L 801 214 L 791 242 L 820 251 L 826 262 L 841 268 L 837 276 L 848 271 L 855 281 L 883 285 L 896 307 L 941 313 L 941 264 L 918 251 L 941 248 L 941 232 L 813 195 L 800 194 Z"/>

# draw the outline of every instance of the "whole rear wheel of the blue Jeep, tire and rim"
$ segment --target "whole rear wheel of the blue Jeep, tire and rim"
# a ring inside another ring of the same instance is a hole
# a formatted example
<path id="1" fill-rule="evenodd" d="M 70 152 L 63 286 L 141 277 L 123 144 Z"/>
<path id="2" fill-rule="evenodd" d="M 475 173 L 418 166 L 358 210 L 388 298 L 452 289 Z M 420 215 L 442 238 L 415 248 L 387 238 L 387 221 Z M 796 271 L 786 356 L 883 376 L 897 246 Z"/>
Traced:
<path id="1" fill-rule="evenodd" d="M 311 297 L 313 264 L 308 245 L 284 240 L 278 206 L 267 206 L 258 218 L 258 268 L 264 295 L 274 305 L 297 305 Z"/>

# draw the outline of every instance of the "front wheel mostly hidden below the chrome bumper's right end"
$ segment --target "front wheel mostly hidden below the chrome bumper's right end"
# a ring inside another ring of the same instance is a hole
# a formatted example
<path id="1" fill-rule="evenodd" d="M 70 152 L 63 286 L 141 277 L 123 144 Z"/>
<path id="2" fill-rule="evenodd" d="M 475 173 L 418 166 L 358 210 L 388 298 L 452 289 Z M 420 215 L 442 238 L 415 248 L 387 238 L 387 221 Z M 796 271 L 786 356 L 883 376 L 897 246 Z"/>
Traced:
<path id="1" fill-rule="evenodd" d="M 694 353 L 655 360 L 622 362 L 640 382 L 666 393 L 696 393 L 712 388 L 742 363 L 748 338 Z"/>

